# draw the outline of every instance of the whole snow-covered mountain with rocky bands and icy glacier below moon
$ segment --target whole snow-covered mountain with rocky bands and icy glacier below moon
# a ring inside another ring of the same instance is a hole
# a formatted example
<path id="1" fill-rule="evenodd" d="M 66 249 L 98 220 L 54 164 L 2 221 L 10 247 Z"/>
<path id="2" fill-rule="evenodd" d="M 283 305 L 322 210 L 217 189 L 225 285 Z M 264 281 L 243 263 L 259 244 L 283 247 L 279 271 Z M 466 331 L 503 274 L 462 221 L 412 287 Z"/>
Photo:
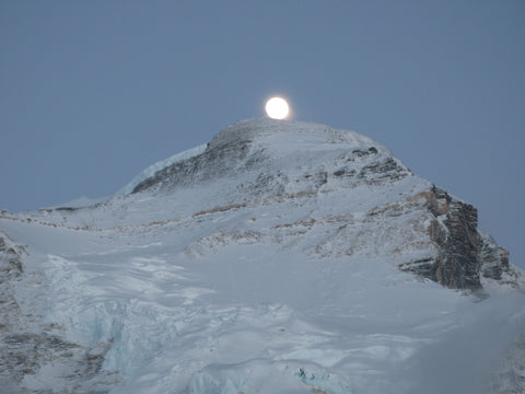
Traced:
<path id="1" fill-rule="evenodd" d="M 10 392 L 522 392 L 524 276 L 475 207 L 324 125 L 198 148 L 105 202 L 2 212 Z"/>

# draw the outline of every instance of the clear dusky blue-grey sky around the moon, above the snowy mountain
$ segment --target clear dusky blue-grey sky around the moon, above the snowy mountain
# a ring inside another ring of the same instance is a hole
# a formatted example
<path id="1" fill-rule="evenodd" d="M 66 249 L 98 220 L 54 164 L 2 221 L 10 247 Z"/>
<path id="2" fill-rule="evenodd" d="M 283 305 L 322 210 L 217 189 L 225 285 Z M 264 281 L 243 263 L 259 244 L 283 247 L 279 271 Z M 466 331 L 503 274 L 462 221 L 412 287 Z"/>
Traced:
<path id="1" fill-rule="evenodd" d="M 525 267 L 525 2 L 0 2 L 0 209 L 108 196 L 264 116 L 352 129 Z"/>

